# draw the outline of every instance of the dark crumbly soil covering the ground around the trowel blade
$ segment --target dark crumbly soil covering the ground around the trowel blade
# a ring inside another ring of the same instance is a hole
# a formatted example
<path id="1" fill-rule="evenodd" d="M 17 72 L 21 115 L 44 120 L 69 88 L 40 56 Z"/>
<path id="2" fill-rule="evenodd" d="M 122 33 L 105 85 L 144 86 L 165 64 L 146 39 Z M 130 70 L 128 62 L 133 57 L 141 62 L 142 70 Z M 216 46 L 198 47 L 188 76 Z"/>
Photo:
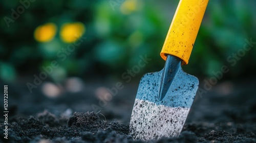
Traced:
<path id="1" fill-rule="evenodd" d="M 256 142 L 255 85 L 254 81 L 215 85 L 202 97 L 197 95 L 179 137 L 149 142 Z M 129 135 L 137 85 L 124 85 L 97 114 L 91 105 L 98 104 L 94 91 L 99 85 L 84 86 L 83 91 L 66 91 L 51 99 L 40 88 L 29 93 L 24 86 L 9 85 L 8 139 L 1 117 L 0 142 L 143 142 Z"/>

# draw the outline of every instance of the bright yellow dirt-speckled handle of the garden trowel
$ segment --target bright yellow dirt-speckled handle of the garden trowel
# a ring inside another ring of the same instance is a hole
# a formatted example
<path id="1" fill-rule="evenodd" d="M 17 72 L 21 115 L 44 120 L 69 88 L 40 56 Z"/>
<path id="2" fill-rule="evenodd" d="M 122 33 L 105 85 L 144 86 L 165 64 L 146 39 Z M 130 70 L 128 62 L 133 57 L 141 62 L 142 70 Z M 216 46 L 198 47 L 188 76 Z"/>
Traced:
<path id="1" fill-rule="evenodd" d="M 170 54 L 188 64 L 208 1 L 180 0 L 160 53 L 164 60 Z"/>

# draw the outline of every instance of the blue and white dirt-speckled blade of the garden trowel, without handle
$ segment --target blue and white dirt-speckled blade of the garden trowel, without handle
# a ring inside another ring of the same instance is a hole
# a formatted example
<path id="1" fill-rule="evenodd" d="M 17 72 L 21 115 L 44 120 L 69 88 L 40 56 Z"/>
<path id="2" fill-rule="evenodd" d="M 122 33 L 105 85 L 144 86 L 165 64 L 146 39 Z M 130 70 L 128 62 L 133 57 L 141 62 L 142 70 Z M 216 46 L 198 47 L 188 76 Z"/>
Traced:
<path id="1" fill-rule="evenodd" d="M 178 136 L 186 121 L 199 81 L 179 66 L 166 96 L 159 100 L 162 73 L 145 74 L 140 81 L 130 122 L 134 139 Z"/>

